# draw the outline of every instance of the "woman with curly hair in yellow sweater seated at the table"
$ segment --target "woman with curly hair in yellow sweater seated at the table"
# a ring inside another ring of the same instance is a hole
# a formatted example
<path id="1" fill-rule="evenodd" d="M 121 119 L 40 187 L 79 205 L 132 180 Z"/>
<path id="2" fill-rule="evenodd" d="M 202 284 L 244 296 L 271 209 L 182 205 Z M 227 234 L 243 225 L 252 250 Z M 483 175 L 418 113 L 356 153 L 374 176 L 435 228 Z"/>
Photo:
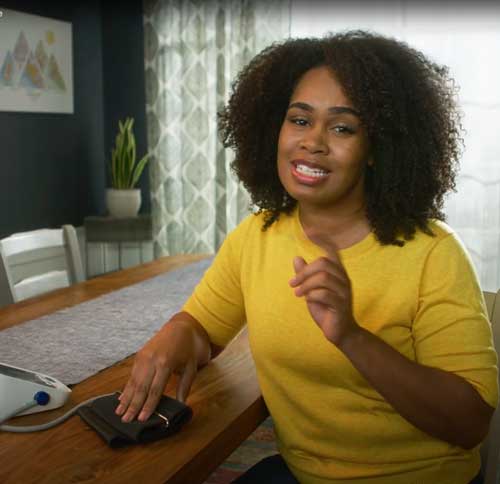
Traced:
<path id="1" fill-rule="evenodd" d="M 248 324 L 280 455 L 240 482 L 480 482 L 497 359 L 471 261 L 442 221 L 461 142 L 446 70 L 392 39 L 289 40 L 221 115 L 259 212 L 138 353 L 117 413 Z"/>

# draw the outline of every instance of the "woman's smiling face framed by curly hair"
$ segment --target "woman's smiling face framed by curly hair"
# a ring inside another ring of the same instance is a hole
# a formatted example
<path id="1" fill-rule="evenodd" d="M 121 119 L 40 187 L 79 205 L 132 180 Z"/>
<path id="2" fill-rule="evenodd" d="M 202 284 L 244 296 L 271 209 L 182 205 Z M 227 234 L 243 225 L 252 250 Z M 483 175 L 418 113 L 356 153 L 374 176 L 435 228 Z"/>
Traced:
<path id="1" fill-rule="evenodd" d="M 278 140 L 278 175 L 302 208 L 358 210 L 370 161 L 366 131 L 333 72 L 307 71 L 295 88 Z"/>

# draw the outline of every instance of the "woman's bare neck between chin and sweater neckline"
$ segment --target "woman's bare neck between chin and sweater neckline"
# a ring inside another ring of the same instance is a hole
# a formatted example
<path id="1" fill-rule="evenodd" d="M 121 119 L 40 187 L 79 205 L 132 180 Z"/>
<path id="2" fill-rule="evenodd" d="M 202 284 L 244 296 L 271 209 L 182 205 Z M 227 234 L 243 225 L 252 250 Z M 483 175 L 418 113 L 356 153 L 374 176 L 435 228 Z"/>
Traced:
<path id="1" fill-rule="evenodd" d="M 371 232 L 364 207 L 332 213 L 299 204 L 298 211 L 307 238 L 327 252 L 351 247 Z"/>

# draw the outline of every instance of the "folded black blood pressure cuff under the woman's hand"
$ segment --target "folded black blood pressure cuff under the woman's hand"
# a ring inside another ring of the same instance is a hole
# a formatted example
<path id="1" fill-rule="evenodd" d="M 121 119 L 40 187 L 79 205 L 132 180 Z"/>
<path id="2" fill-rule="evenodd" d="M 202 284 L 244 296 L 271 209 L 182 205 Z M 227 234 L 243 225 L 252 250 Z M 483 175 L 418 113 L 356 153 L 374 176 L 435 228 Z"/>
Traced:
<path id="1" fill-rule="evenodd" d="M 145 422 L 122 422 L 115 414 L 119 393 L 97 398 L 78 409 L 78 415 L 112 448 L 154 442 L 180 430 L 193 415 L 191 408 L 163 395 L 155 412 Z"/>

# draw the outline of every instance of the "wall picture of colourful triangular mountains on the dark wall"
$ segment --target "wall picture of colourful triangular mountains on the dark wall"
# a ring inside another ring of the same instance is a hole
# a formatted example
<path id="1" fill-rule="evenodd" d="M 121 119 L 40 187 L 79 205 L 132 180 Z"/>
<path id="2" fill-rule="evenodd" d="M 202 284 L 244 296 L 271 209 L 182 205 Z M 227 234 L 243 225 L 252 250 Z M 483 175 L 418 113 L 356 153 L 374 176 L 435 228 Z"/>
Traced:
<path id="1" fill-rule="evenodd" d="M 71 23 L 0 11 L 0 111 L 73 113 Z"/>

